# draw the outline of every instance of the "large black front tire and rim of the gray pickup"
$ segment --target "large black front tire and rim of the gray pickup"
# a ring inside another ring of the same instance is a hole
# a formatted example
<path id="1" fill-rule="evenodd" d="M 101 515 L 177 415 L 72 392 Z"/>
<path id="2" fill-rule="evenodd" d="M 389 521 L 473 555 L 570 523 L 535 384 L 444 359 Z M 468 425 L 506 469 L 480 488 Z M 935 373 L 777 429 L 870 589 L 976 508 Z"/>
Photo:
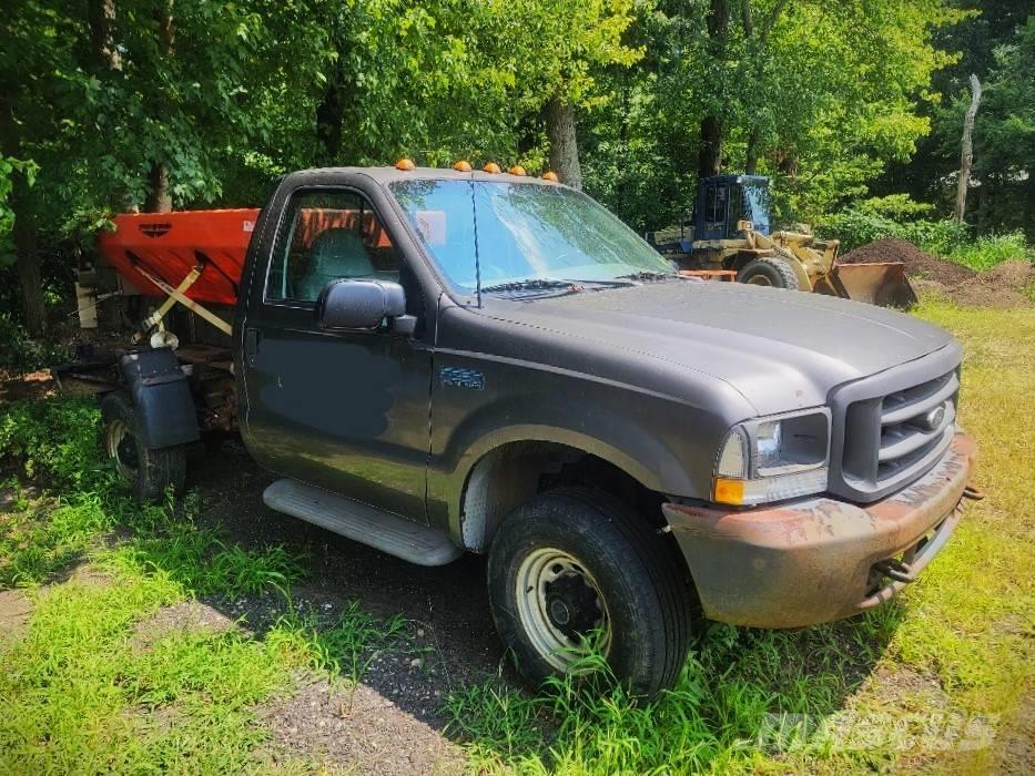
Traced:
<path id="1" fill-rule="evenodd" d="M 489 601 L 518 671 L 565 673 L 587 639 L 632 694 L 671 687 L 687 657 L 692 586 L 669 538 L 585 488 L 547 491 L 504 521 L 489 551 Z"/>

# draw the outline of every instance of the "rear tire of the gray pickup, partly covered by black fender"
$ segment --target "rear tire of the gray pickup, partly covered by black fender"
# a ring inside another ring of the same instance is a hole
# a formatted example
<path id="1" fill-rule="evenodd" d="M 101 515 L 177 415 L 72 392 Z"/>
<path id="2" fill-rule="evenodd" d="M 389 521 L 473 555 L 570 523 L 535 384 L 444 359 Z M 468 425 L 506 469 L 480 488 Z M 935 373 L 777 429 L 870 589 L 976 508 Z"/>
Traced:
<path id="1" fill-rule="evenodd" d="M 186 479 L 186 452 L 182 445 L 149 448 L 129 392 L 119 390 L 101 401 L 104 420 L 104 451 L 115 464 L 122 481 L 133 492 L 136 503 L 160 501 L 165 490 L 183 492 Z"/>

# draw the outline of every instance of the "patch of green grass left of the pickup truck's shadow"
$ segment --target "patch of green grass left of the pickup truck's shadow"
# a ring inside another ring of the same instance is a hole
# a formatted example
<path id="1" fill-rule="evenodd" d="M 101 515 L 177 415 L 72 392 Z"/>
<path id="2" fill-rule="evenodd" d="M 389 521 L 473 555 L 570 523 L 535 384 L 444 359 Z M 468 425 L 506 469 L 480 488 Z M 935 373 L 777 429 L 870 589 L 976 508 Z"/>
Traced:
<path id="1" fill-rule="evenodd" d="M 23 634 L 0 637 L 0 773 L 319 770 L 270 758 L 260 704 L 290 693 L 301 672 L 354 685 L 403 641 L 405 621 L 356 603 L 331 622 L 296 609 L 304 558 L 229 542 L 199 524 L 193 494 L 135 507 L 99 462 L 89 402 L 2 412 L 0 462 L 37 487 L 58 482 L 62 496 L 3 483 L 17 498 L 0 513 L 0 588 L 26 589 L 32 610 Z M 74 476 L 80 463 L 89 476 Z M 90 573 L 61 581 L 73 565 Z M 272 596 L 281 614 L 261 635 L 160 632 L 141 647 L 142 623 L 202 595 Z"/>

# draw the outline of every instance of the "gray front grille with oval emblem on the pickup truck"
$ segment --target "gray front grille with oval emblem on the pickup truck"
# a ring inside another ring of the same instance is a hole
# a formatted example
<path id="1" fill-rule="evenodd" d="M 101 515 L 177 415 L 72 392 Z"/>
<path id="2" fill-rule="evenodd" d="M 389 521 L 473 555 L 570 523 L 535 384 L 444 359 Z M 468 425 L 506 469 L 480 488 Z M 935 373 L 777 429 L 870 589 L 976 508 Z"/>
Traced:
<path id="1" fill-rule="evenodd" d="M 960 355 L 954 344 L 832 392 L 832 492 L 883 498 L 942 458 L 956 431 Z"/>

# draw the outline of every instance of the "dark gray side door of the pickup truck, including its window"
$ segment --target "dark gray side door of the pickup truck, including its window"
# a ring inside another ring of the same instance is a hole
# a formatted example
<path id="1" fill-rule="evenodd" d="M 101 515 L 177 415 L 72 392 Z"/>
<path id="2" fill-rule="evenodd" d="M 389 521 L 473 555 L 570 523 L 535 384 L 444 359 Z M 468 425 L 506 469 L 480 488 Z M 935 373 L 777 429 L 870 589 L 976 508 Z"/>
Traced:
<path id="1" fill-rule="evenodd" d="M 369 200 L 351 188 L 294 191 L 272 249 L 253 262 L 239 360 L 250 452 L 280 474 L 426 522 L 430 350 L 316 320 L 319 292 L 343 277 L 397 282 L 407 305 L 419 300 Z"/>

